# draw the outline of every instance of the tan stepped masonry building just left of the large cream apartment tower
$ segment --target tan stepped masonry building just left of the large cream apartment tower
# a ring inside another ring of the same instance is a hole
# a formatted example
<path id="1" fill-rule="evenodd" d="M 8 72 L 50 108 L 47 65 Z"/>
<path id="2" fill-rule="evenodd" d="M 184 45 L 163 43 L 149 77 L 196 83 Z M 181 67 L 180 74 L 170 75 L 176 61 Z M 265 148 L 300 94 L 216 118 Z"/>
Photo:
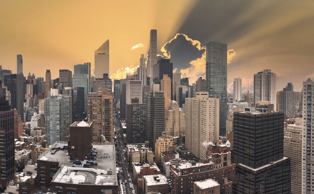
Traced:
<path id="1" fill-rule="evenodd" d="M 165 131 L 169 135 L 185 135 L 185 117 L 178 103 L 172 102 L 171 108 L 165 112 Z"/>

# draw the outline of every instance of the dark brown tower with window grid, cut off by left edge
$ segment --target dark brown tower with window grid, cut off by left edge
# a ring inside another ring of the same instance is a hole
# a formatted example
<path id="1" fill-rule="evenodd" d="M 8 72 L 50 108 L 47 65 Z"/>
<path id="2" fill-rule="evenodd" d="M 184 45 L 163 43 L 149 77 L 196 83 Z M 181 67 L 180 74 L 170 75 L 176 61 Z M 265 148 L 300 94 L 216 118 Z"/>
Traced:
<path id="1" fill-rule="evenodd" d="M 0 182 L 5 187 L 10 180 L 14 180 L 15 172 L 14 110 L 11 110 L 5 96 L 0 97 L 0 118 Z"/>

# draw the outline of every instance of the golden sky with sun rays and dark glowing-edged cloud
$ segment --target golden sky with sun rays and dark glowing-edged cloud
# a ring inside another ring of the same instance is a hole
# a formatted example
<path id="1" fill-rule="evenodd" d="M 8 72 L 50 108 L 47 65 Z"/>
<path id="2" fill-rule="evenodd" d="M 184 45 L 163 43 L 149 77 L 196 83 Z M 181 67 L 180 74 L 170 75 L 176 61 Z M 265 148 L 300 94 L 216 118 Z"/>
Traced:
<path id="1" fill-rule="evenodd" d="M 51 78 L 59 69 L 91 62 L 110 40 L 110 78 L 132 75 L 147 55 L 149 31 L 157 30 L 159 58 L 190 84 L 205 78 L 209 41 L 228 45 L 228 91 L 242 78 L 242 92 L 253 92 L 254 73 L 271 69 L 277 91 L 288 82 L 300 91 L 314 78 L 314 1 L 6 1 L 0 0 L 0 65 L 16 73 Z"/>

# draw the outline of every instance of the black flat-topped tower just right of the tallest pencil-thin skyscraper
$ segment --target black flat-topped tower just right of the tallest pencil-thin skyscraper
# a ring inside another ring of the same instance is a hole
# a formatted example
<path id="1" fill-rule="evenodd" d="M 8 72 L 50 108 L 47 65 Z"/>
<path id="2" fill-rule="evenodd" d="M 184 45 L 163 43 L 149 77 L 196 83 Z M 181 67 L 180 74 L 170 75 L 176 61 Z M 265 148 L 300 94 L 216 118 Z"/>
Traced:
<path id="1" fill-rule="evenodd" d="M 153 67 L 153 81 L 154 84 L 160 84 L 164 74 L 168 75 L 171 79 L 171 98 L 172 98 L 172 63 L 170 59 L 159 59 L 157 64 Z"/>

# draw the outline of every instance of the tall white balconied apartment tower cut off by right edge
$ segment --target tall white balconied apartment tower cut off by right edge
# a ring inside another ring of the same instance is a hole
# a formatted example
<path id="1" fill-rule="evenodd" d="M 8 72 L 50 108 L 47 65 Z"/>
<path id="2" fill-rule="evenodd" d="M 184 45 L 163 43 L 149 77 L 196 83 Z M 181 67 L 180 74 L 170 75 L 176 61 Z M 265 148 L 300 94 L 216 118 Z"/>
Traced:
<path id="1" fill-rule="evenodd" d="M 314 193 L 314 135 L 313 108 L 314 82 L 308 78 L 303 82 L 303 138 L 302 138 L 302 193 Z"/>

